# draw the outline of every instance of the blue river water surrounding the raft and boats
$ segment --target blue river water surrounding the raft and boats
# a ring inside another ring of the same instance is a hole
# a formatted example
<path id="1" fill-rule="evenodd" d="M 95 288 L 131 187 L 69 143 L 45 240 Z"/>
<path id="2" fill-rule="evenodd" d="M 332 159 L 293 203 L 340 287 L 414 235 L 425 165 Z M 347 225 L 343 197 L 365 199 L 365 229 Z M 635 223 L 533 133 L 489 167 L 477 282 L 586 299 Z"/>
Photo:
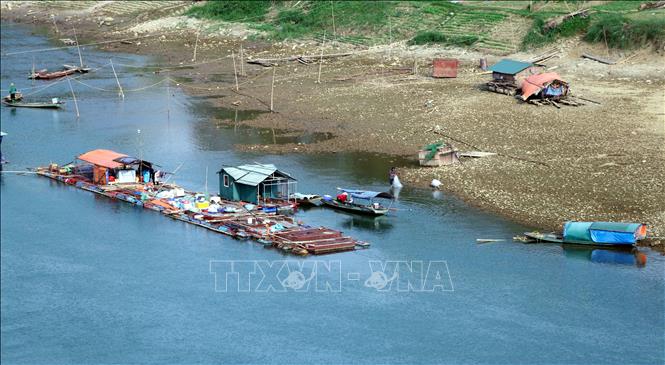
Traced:
<path id="1" fill-rule="evenodd" d="M 233 110 L 212 108 L 164 82 L 164 74 L 151 72 L 158 60 L 90 48 L 84 61 L 99 69 L 79 79 L 85 85 L 72 81 L 77 118 L 67 82 L 26 79 L 33 55 L 38 69 L 57 69 L 77 63 L 75 49 L 6 55 L 54 45 L 30 29 L 2 25 L 3 94 L 13 81 L 24 94 L 38 91 L 27 96 L 33 100 L 66 101 L 60 111 L 2 108 L 6 171 L 106 148 L 168 171 L 181 166 L 175 182 L 201 191 L 206 168 L 215 191 L 221 166 L 260 162 L 294 175 L 302 192 L 334 193 L 340 186 L 385 190 L 388 167 L 407 163 L 358 153 L 237 152 L 236 143 L 273 143 L 273 131 L 222 123 L 235 118 Z M 124 100 L 104 66 L 111 58 Z M 46 85 L 53 86 L 41 89 Z M 607 252 L 514 243 L 526 227 L 404 183 L 387 217 L 298 212 L 299 220 L 372 246 L 296 258 L 34 175 L 5 173 L 2 363 L 665 361 L 663 256 L 641 249 L 647 263 L 638 266 L 632 254 L 608 260 Z M 265 270 L 253 282 L 244 271 L 225 281 L 229 262 Z M 436 275 L 418 275 L 420 263 Z M 305 278 L 316 278 L 304 289 L 278 289 L 288 273 L 277 272 L 282 264 L 302 265 Z M 412 275 L 404 273 L 414 280 L 391 281 L 403 264 L 411 265 Z M 376 272 L 383 281 L 371 280 Z"/>

